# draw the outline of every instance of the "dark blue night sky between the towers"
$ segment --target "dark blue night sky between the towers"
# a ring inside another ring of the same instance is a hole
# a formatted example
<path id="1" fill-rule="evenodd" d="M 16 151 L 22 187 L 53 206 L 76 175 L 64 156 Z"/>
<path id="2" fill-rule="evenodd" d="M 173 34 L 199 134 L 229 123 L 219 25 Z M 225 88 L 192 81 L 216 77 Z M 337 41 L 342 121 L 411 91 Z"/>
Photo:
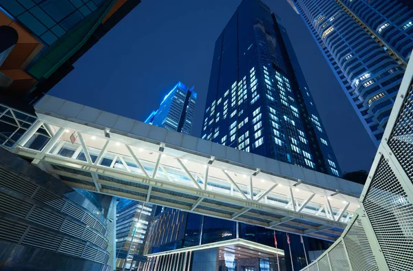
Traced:
<path id="1" fill-rule="evenodd" d="M 142 0 L 50 94 L 143 121 L 180 80 L 198 92 L 200 136 L 215 40 L 240 1 Z M 376 149 L 306 25 L 286 0 L 264 2 L 286 25 L 341 169 L 369 170 Z"/>

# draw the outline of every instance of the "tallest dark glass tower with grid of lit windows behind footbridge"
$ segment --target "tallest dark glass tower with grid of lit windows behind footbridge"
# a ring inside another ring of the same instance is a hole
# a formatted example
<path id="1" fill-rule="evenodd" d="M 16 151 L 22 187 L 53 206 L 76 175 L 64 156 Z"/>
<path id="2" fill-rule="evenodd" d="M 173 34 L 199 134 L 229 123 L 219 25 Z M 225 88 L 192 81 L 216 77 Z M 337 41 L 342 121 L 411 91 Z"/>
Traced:
<path id="1" fill-rule="evenodd" d="M 341 175 L 282 23 L 244 0 L 215 43 L 202 138 Z"/>

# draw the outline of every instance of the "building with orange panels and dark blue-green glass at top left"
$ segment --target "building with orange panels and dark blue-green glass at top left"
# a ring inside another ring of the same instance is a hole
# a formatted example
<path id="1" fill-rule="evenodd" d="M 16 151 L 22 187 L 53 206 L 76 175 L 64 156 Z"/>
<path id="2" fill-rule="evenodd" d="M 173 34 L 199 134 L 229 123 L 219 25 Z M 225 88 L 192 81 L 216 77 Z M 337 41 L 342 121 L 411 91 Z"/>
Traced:
<path id="1" fill-rule="evenodd" d="M 0 62 L 0 95 L 33 104 L 140 0 L 0 0 L 0 25 L 19 40 Z M 2 41 L 0 41 L 1 43 Z M 6 82 L 6 83 L 3 83 Z"/>

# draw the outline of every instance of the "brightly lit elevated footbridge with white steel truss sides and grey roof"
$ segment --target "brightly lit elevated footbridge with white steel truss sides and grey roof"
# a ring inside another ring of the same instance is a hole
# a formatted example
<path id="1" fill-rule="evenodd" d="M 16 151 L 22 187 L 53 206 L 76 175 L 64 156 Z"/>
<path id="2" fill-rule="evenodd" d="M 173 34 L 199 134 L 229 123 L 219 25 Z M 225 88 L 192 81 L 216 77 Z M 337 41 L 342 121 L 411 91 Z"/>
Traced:
<path id="1" fill-rule="evenodd" d="M 52 96 L 30 117 L 7 147 L 74 188 L 330 241 L 359 205 L 358 184 Z"/>

